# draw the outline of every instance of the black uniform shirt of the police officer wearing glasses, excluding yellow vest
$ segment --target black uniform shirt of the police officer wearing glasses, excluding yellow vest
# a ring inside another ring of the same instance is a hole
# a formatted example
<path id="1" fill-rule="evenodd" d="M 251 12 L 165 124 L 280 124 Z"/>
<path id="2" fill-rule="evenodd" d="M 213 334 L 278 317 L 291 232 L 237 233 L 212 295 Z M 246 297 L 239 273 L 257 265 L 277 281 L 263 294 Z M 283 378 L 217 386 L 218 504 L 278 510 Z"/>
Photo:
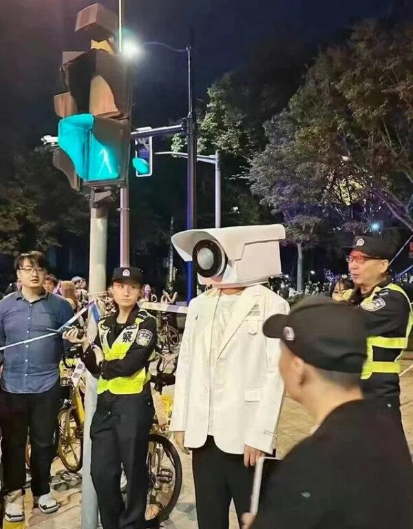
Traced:
<path id="1" fill-rule="evenodd" d="M 403 338 L 409 322 L 410 305 L 403 293 L 388 288 L 389 283 L 390 280 L 381 282 L 378 285 L 381 290 L 374 295 L 372 302 L 362 306 L 366 326 L 370 336 Z M 349 302 L 360 305 L 369 295 L 371 292 L 363 295 L 359 289 L 354 289 Z M 401 349 L 373 347 L 373 360 L 376 362 L 394 362 L 400 354 Z M 394 404 L 398 404 L 400 386 L 396 373 L 372 373 L 368 379 L 362 380 L 361 385 L 367 398 L 393 397 Z"/>

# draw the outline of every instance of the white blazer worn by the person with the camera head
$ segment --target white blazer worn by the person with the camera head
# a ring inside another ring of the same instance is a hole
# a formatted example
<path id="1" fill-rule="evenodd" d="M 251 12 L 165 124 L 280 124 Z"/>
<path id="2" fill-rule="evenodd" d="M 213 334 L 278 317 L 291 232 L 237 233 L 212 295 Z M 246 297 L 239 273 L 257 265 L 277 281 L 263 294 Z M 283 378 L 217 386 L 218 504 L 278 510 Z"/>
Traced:
<path id="1" fill-rule="evenodd" d="M 171 431 L 184 431 L 184 444 L 207 440 L 210 408 L 211 333 L 219 291 L 189 304 L 176 373 Z M 226 453 L 244 446 L 273 451 L 284 384 L 278 371 L 279 340 L 266 338 L 262 325 L 273 314 L 287 314 L 288 303 L 262 285 L 247 287 L 233 306 L 215 364 L 213 433 Z"/>

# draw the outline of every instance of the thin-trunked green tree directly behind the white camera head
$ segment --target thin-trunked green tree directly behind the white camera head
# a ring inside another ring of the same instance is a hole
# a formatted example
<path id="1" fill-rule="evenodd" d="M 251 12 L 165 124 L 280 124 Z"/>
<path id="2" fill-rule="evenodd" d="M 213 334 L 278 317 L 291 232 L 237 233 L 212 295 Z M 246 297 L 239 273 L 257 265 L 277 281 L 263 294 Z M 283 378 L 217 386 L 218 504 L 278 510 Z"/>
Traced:
<path id="1" fill-rule="evenodd" d="M 248 180 L 253 194 L 286 225 L 286 240 L 297 246 L 301 291 L 304 250 L 334 245 L 342 231 L 366 231 L 379 207 L 352 178 L 338 178 L 327 164 L 303 155 L 291 112 L 274 116 L 265 131 L 268 144 L 253 158 Z"/>

